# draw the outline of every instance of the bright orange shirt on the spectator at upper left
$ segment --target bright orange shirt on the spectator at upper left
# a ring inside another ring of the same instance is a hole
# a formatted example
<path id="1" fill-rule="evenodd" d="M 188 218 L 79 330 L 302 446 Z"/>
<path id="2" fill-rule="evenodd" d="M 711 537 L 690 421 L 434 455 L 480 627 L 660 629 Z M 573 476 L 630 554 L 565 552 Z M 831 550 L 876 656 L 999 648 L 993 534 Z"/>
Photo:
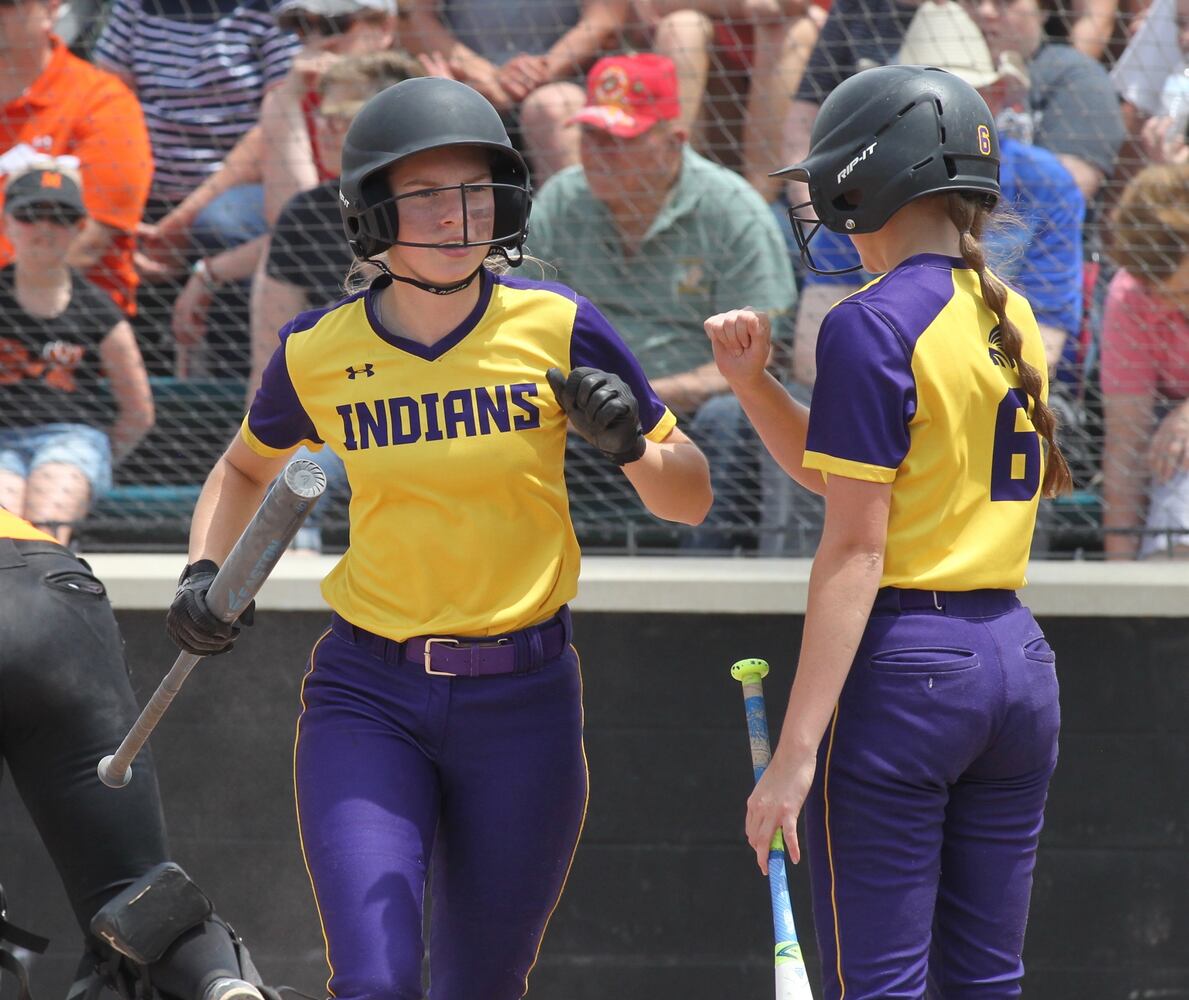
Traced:
<path id="1" fill-rule="evenodd" d="M 117 76 L 71 55 L 50 36 L 50 63 L 17 100 L 0 107 L 0 158 L 19 169 L 33 153 L 76 156 L 90 216 L 119 229 L 87 273 L 125 313 L 136 313 L 132 266 L 137 224 L 152 181 L 152 151 L 140 102 Z M 0 209 L 4 196 L 0 193 Z M 0 233 L 0 266 L 12 245 Z"/>

